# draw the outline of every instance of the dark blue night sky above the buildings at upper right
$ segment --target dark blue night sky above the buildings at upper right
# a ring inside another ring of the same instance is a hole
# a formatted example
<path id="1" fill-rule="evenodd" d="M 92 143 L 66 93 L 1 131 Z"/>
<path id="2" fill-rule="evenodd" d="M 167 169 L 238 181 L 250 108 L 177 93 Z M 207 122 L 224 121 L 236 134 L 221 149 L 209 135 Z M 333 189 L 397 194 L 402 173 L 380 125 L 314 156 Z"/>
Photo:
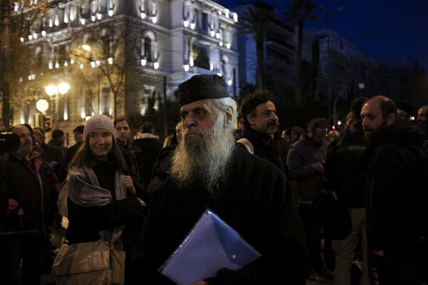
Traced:
<path id="1" fill-rule="evenodd" d="M 242 0 L 221 0 L 233 11 Z M 246 3 L 253 0 L 245 0 Z M 283 17 L 290 0 L 265 0 Z M 345 7 L 330 15 L 330 28 L 344 36 L 376 63 L 412 66 L 418 61 L 428 71 L 428 0 L 313 0 L 327 11 Z M 327 28 L 325 12 L 315 11 L 318 21 L 306 21 L 305 28 Z"/>

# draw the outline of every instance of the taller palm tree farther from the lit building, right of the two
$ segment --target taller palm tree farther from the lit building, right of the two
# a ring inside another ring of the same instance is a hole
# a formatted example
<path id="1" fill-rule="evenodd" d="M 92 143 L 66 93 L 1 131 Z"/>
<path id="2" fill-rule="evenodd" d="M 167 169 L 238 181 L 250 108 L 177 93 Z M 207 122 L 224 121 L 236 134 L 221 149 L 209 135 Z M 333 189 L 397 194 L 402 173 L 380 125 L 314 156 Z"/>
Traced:
<path id="1" fill-rule="evenodd" d="M 285 6 L 285 16 L 291 23 L 297 24 L 297 56 L 296 56 L 296 83 L 295 83 L 295 103 L 302 103 L 302 43 L 303 24 L 305 20 L 317 21 L 317 17 L 312 15 L 312 11 L 317 9 L 317 5 L 312 0 L 292 0 Z"/>

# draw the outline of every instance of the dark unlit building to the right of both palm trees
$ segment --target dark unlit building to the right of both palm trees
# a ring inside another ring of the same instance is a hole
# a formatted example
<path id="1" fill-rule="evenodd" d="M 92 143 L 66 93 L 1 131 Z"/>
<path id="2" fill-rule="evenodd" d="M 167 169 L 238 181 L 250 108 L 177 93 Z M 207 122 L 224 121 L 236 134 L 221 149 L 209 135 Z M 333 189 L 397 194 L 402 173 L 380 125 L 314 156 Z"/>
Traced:
<path id="1" fill-rule="evenodd" d="M 336 125 L 339 118 L 338 100 L 342 98 L 351 102 L 364 95 L 375 64 L 357 46 L 331 29 L 305 30 L 302 51 L 302 60 L 307 66 L 315 68 L 315 78 L 310 78 L 315 83 L 307 84 L 315 86 L 310 95 L 314 96 L 315 101 L 324 100 L 329 104 L 328 120 Z M 346 113 L 347 108 L 341 117 L 345 118 Z"/>

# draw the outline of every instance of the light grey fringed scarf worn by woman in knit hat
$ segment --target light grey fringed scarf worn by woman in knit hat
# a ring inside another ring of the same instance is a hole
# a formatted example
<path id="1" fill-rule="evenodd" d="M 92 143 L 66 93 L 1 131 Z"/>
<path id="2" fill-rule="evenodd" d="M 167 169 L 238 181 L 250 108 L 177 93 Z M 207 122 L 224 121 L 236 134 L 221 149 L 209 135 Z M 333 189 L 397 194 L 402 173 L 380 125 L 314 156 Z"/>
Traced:
<path id="1" fill-rule="evenodd" d="M 114 177 L 114 189 L 116 199 L 126 198 L 125 180 L 118 171 Z M 86 166 L 74 167 L 70 170 L 65 185 L 61 187 L 58 207 L 61 215 L 65 217 L 68 215 L 67 196 L 74 204 L 81 207 L 105 206 L 113 201 L 111 192 L 100 187 L 95 172 L 91 167 Z M 121 237 L 124 227 L 125 224 L 121 224 L 113 230 L 99 231 L 100 237 L 106 242 L 113 243 Z"/>

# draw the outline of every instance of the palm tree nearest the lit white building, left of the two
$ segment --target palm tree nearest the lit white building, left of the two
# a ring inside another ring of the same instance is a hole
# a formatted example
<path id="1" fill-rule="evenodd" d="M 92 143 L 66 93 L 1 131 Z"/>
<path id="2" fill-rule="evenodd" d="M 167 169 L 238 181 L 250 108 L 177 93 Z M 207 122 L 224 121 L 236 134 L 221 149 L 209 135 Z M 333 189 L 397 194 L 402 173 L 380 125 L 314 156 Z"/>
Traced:
<path id="1" fill-rule="evenodd" d="M 270 28 L 272 28 L 270 18 L 271 16 L 267 14 L 266 11 L 248 7 L 248 9 L 240 15 L 240 19 L 243 21 L 238 23 L 238 27 L 243 28 L 243 31 L 239 31 L 237 34 L 253 34 L 257 56 L 255 85 L 258 88 L 263 88 L 263 80 L 265 78 L 263 54 L 266 35 L 269 33 Z"/>

